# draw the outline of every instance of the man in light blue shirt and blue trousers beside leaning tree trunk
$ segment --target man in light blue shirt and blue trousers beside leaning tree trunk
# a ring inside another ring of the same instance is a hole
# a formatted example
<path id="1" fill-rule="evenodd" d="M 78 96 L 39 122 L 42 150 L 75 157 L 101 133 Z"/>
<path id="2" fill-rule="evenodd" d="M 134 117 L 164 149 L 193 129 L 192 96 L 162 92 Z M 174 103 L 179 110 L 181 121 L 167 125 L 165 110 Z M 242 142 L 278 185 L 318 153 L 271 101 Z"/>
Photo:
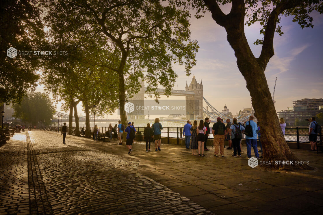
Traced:
<path id="1" fill-rule="evenodd" d="M 249 121 L 245 123 L 245 142 L 248 156 L 246 159 L 251 158 L 251 147 L 254 149 L 256 158 L 259 159 L 257 148 L 257 123 L 254 122 L 254 116 L 250 116 Z"/>

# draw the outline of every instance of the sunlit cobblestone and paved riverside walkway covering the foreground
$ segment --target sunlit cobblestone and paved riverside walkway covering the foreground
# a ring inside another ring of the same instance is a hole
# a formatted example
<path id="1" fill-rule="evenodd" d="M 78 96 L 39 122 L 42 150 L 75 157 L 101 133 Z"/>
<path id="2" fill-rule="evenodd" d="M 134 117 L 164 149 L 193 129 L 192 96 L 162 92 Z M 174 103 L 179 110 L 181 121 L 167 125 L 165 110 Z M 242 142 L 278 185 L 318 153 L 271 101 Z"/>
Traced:
<path id="1" fill-rule="evenodd" d="M 1 214 L 321 214 L 323 154 L 293 150 L 314 171 L 279 173 L 242 157 L 191 155 L 180 145 L 129 156 L 117 141 L 15 134 L 1 153 Z M 28 140 L 28 141 L 26 141 Z"/>

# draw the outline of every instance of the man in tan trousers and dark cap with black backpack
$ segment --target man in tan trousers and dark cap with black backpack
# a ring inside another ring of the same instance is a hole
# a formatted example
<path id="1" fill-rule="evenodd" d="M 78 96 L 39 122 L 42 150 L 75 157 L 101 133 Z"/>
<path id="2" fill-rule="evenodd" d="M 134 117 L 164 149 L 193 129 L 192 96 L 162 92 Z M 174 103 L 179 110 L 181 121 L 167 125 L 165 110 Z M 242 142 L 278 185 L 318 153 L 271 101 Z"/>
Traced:
<path id="1" fill-rule="evenodd" d="M 212 134 L 214 143 L 214 156 L 218 157 L 219 145 L 221 157 L 224 157 L 224 137 L 226 135 L 226 129 L 224 123 L 221 122 L 221 118 L 216 118 L 216 123 L 213 124 Z"/>

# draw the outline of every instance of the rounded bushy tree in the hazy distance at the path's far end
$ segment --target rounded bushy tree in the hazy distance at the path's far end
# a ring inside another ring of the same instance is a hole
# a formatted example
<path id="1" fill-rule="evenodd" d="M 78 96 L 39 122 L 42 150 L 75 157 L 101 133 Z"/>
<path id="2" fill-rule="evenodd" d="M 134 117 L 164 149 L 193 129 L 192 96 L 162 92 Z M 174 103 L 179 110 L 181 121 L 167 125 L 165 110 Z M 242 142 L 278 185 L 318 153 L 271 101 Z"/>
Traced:
<path id="1" fill-rule="evenodd" d="M 42 124 L 49 125 L 50 118 L 55 113 L 55 106 L 50 97 L 40 92 L 29 93 L 23 98 L 21 104 L 16 103 L 13 108 L 14 117 L 33 125 L 37 125 L 40 121 Z"/>

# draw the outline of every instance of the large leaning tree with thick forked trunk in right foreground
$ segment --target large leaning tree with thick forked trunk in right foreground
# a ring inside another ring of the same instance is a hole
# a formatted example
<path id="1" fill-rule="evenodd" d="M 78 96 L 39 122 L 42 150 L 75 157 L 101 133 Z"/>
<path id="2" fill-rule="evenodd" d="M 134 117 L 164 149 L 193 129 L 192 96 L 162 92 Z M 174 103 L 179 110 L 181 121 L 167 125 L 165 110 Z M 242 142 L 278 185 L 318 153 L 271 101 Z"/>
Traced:
<path id="1" fill-rule="evenodd" d="M 313 18 L 309 15 L 314 10 L 323 12 L 322 1 L 319 0 L 170 0 L 184 8 L 198 8 L 198 12 L 208 9 L 214 21 L 223 26 L 227 32 L 227 40 L 234 50 L 237 66 L 245 78 L 250 92 L 255 116 L 261 127 L 261 142 L 264 147 L 264 160 L 298 160 L 286 144 L 279 127 L 276 110 L 267 85 L 265 69 L 274 55 L 273 39 L 277 32 L 282 35 L 279 25 L 281 16 L 294 16 L 294 22 L 304 27 L 313 27 Z M 219 5 L 232 3 L 229 14 L 224 14 Z M 245 17 L 247 20 L 245 21 Z M 260 23 L 262 39 L 255 41 L 262 45 L 259 57 L 254 56 L 245 36 L 244 26 Z M 271 169 L 309 169 L 307 165 L 268 165 Z"/>

